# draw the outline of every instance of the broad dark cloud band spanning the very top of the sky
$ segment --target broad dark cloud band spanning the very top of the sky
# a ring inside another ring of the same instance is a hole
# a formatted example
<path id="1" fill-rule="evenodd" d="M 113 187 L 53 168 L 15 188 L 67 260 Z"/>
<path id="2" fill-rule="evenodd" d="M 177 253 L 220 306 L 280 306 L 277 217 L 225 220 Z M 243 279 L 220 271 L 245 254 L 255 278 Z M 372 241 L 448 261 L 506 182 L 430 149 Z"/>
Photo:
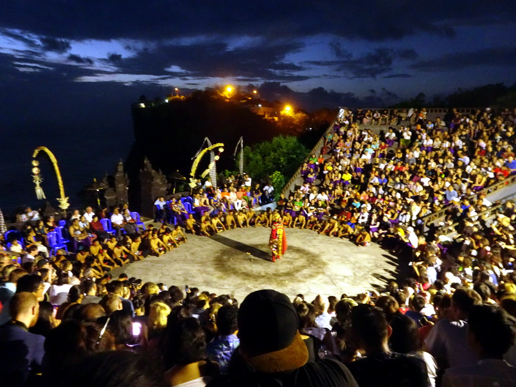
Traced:
<path id="1" fill-rule="evenodd" d="M 240 0 L 202 3 L 4 0 L 0 13 L 0 25 L 6 28 L 79 40 L 222 34 L 291 38 L 324 33 L 388 41 L 420 33 L 453 36 L 456 26 L 514 23 L 514 20 L 513 0 L 435 0 L 421 4 L 374 0 L 367 5 L 284 0 L 268 2 L 266 7 L 261 2 Z"/>

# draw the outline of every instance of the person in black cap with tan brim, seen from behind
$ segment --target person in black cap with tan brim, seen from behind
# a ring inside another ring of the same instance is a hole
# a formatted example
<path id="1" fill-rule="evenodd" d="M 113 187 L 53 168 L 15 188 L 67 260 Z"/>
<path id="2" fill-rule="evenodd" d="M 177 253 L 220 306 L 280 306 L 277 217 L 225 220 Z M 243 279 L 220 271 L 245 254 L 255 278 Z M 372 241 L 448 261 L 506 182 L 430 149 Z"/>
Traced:
<path id="1" fill-rule="evenodd" d="M 308 349 L 298 331 L 292 302 L 264 289 L 249 294 L 238 311 L 241 357 L 254 369 L 246 375 L 221 376 L 208 387 L 358 386 L 349 370 L 335 360 L 308 363 Z"/>

